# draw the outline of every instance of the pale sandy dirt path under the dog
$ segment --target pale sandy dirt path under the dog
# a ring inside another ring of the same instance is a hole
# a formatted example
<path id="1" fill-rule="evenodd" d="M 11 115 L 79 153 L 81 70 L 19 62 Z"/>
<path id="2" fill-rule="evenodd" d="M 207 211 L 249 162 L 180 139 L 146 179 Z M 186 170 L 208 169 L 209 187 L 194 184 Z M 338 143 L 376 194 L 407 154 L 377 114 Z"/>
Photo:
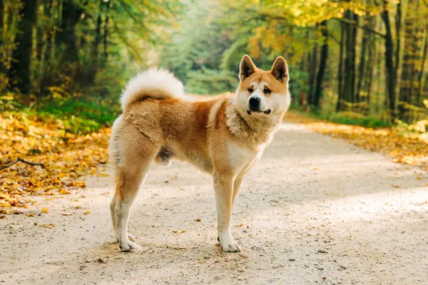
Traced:
<path id="1" fill-rule="evenodd" d="M 48 214 L 0 219 L 0 281 L 428 284 L 427 182 L 419 169 L 284 124 L 235 204 L 240 254 L 216 241 L 210 177 L 175 162 L 153 166 L 133 207 L 130 232 L 143 251 L 119 251 L 112 178 L 88 178 L 83 193 L 39 197 Z"/>

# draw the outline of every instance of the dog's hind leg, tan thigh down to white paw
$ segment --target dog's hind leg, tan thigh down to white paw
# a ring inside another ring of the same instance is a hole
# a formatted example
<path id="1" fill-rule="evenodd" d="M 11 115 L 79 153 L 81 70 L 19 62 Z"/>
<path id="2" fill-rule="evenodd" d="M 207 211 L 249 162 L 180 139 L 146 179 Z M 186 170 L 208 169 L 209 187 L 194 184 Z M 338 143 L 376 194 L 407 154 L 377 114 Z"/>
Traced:
<path id="1" fill-rule="evenodd" d="M 133 239 L 133 236 L 128 235 L 128 219 L 133 201 L 158 150 L 148 139 L 138 141 L 138 148 L 129 153 L 128 159 L 121 161 L 116 171 L 116 194 L 111 202 L 111 211 L 116 237 L 123 251 L 139 248 L 129 239 Z"/>

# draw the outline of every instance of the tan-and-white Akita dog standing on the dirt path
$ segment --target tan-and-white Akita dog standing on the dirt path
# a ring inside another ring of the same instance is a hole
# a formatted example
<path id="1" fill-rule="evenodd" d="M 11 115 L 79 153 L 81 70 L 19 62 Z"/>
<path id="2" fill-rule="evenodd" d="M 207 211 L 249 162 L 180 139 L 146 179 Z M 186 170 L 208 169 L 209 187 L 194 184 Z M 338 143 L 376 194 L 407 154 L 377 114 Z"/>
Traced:
<path id="1" fill-rule="evenodd" d="M 139 249 L 128 219 L 152 161 L 188 161 L 213 176 L 218 241 L 240 251 L 230 231 L 232 207 L 243 176 L 260 159 L 290 106 L 288 66 L 281 56 L 270 71 L 250 56 L 240 61 L 235 94 L 189 100 L 183 84 L 164 69 L 148 69 L 127 84 L 123 113 L 113 124 L 109 156 L 116 167 L 111 219 L 122 251 Z"/>

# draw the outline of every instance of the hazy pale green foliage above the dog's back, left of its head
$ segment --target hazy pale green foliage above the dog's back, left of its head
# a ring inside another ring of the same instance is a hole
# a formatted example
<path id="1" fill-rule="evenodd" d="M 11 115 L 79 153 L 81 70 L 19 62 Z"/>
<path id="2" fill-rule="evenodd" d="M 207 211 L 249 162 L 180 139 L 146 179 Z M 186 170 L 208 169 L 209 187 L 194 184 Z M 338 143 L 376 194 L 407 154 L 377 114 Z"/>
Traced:
<path id="1" fill-rule="evenodd" d="M 223 54 L 234 45 L 230 27 L 219 22 L 221 15 L 213 1 L 195 1 L 188 6 L 179 19 L 182 29 L 161 49 L 160 65 L 173 71 L 190 93 L 233 91 L 238 84 L 237 74 L 220 66 Z M 239 60 L 233 63 L 233 69 L 238 68 Z"/>

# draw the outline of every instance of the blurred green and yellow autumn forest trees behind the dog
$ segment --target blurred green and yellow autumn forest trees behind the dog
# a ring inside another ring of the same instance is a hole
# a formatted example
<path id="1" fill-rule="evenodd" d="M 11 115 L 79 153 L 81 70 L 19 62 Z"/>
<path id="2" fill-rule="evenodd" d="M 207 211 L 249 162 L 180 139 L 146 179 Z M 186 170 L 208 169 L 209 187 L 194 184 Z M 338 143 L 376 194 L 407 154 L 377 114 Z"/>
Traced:
<path id="1" fill-rule="evenodd" d="M 295 108 L 412 123 L 427 116 L 427 5 L 0 0 L 0 88 L 38 111 L 89 109 L 109 123 L 126 79 L 147 66 L 171 69 L 190 93 L 218 94 L 236 88 L 243 54 L 263 69 L 282 55 Z"/>

